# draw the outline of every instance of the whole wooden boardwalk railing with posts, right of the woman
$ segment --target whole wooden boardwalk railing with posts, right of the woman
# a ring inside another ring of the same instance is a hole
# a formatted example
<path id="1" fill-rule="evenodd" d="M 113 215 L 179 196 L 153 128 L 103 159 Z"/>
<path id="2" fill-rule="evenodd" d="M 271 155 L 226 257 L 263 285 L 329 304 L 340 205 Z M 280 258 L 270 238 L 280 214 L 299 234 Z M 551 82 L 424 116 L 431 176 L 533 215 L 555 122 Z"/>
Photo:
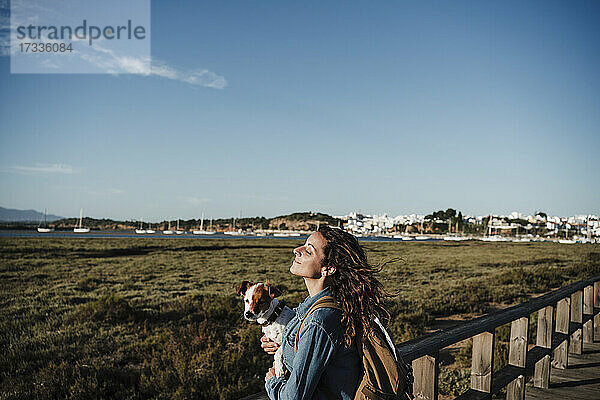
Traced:
<path id="1" fill-rule="evenodd" d="M 529 318 L 536 311 L 536 344 L 529 348 Z M 509 322 L 508 365 L 493 371 L 494 331 Z M 456 399 L 490 399 L 505 387 L 507 400 L 523 399 L 528 374 L 533 374 L 535 387 L 548 388 L 551 362 L 564 369 L 569 353 L 581 354 L 583 343 L 600 340 L 600 276 L 399 344 L 404 360 L 412 362 L 416 399 L 437 400 L 440 350 L 469 338 L 473 338 L 471 388 Z"/>

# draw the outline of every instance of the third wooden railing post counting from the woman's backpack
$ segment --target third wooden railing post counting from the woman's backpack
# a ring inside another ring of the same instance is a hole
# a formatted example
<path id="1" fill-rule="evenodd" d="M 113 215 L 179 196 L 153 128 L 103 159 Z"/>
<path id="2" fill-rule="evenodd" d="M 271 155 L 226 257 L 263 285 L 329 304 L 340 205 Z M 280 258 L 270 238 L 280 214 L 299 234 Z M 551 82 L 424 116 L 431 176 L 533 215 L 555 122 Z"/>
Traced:
<path id="1" fill-rule="evenodd" d="M 529 317 L 522 317 L 512 322 L 510 326 L 510 347 L 508 350 L 508 363 L 515 367 L 525 368 L 527 358 L 527 329 Z M 506 400 L 525 399 L 525 377 L 519 377 L 506 387 Z"/>

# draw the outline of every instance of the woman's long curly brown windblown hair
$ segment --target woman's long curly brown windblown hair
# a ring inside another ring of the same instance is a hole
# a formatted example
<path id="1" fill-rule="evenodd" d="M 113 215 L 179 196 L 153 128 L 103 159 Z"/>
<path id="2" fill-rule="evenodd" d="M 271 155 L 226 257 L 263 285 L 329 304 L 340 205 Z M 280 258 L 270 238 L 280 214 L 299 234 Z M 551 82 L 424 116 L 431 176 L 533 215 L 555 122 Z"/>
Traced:
<path id="1" fill-rule="evenodd" d="M 328 283 L 342 307 L 344 341 L 350 346 L 355 338 L 373 329 L 374 317 L 384 324 L 389 322 L 390 315 L 383 306 L 384 298 L 389 295 L 376 277 L 382 266 L 369 265 L 363 248 L 350 233 L 327 225 L 320 226 L 318 232 L 327 241 L 323 265 L 336 268 L 328 276 Z"/>

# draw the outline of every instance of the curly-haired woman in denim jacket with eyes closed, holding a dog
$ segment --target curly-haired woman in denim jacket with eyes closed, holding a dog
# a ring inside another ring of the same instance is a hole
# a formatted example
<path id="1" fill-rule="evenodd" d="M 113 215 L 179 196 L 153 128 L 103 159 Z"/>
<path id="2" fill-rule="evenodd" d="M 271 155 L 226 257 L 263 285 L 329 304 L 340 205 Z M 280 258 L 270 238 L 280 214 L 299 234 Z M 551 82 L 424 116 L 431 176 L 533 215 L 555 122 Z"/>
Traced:
<path id="1" fill-rule="evenodd" d="M 271 368 L 265 388 L 272 400 L 353 399 L 361 374 L 355 338 L 373 328 L 373 317 L 388 318 L 383 286 L 367 263 L 358 240 L 341 229 L 322 226 L 294 249 L 290 272 L 304 278 L 307 297 L 283 332 L 283 360 L 289 374 L 275 377 Z M 317 300 L 332 296 L 341 311 L 319 308 L 306 317 Z M 302 321 L 295 353 L 294 343 Z M 273 354 L 277 345 L 262 338 Z"/>

